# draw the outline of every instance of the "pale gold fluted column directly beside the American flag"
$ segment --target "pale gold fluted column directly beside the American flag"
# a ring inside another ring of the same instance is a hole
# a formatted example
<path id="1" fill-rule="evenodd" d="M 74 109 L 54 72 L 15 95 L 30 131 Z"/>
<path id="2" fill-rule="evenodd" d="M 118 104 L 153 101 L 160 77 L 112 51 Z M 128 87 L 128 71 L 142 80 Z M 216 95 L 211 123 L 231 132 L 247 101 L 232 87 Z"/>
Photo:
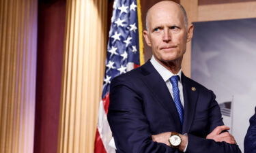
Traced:
<path id="1" fill-rule="evenodd" d="M 107 1 L 67 0 L 59 153 L 94 152 L 106 52 Z"/>

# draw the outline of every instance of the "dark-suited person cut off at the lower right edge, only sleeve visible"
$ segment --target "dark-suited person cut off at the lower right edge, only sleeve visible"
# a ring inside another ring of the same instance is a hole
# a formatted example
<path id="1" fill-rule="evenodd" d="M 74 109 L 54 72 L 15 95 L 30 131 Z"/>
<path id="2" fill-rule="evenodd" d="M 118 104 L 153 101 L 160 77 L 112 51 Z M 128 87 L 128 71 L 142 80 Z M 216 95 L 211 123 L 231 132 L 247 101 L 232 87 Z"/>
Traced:
<path id="1" fill-rule="evenodd" d="M 255 114 L 250 119 L 250 126 L 244 139 L 244 153 L 256 152 L 256 107 Z"/>

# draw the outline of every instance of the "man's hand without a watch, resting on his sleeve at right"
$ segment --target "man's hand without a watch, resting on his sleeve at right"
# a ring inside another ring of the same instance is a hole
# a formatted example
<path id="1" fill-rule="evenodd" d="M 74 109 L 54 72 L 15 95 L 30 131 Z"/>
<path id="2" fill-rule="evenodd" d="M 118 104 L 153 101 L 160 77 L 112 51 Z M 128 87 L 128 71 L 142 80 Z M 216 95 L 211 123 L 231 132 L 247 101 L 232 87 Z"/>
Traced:
<path id="1" fill-rule="evenodd" d="M 217 126 L 209 135 L 207 135 L 206 139 L 213 139 L 216 142 L 225 141 L 230 144 L 236 144 L 236 140 L 228 132 L 221 133 L 222 131 L 229 130 L 230 128 L 228 126 Z M 221 133 L 221 134 L 220 134 Z"/>

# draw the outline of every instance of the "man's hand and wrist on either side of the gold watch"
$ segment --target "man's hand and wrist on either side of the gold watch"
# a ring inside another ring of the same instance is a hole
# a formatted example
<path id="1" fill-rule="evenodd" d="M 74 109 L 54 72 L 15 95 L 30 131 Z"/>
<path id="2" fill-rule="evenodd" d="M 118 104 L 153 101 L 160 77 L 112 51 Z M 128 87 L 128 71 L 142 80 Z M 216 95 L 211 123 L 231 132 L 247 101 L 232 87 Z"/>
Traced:
<path id="1" fill-rule="evenodd" d="M 179 136 L 182 139 L 182 143 L 180 144 L 180 147 L 178 149 L 183 152 L 188 143 L 188 136 L 181 135 L 181 134 L 179 134 Z M 171 146 L 171 144 L 169 143 L 169 137 L 171 137 L 171 132 L 160 133 L 158 135 L 152 135 L 152 141 L 155 141 L 158 143 L 165 143 L 167 146 Z"/>

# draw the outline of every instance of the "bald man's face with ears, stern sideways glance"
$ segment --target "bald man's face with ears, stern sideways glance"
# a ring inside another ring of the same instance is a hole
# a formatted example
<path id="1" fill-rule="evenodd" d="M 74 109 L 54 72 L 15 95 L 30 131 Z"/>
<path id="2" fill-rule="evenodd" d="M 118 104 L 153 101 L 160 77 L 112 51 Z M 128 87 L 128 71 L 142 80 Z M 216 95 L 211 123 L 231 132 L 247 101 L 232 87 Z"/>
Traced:
<path id="1" fill-rule="evenodd" d="M 186 30 L 184 16 L 178 5 L 152 7 L 148 14 L 148 31 L 144 31 L 147 45 L 158 61 L 182 60 L 186 43 L 190 41 L 190 31 Z M 192 29 L 193 31 L 193 29 Z"/>

